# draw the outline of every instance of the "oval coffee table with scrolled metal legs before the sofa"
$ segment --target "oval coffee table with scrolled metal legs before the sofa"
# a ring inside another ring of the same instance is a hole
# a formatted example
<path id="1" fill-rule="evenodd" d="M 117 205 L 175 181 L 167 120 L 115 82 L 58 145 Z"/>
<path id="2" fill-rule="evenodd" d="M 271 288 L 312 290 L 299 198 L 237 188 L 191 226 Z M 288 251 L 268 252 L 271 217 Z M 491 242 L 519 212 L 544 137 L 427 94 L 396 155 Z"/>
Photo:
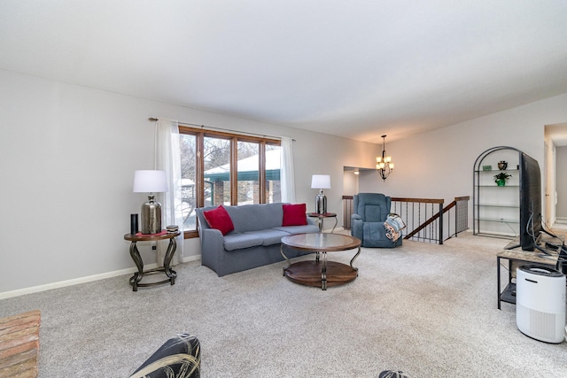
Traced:
<path id="1" fill-rule="evenodd" d="M 291 264 L 283 252 L 286 248 L 313 252 L 316 253 L 316 258 Z M 350 266 L 327 260 L 327 252 L 353 249 L 357 251 Z M 361 241 L 353 236 L 323 233 L 283 236 L 280 251 L 288 263 L 288 266 L 283 268 L 283 275 L 292 282 L 321 286 L 321 289 L 326 290 L 328 286 L 352 282 L 358 276 L 358 268 L 353 266 L 353 262 L 361 254 Z"/>

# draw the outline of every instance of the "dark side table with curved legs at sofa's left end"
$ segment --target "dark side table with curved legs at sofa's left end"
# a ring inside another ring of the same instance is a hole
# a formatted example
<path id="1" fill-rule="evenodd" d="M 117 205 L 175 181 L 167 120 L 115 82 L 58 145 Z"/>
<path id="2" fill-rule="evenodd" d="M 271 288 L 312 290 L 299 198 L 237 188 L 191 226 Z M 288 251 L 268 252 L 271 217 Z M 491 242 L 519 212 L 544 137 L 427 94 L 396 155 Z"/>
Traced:
<path id="1" fill-rule="evenodd" d="M 175 272 L 175 270 L 171 268 L 171 266 L 169 266 L 169 264 L 171 263 L 171 259 L 174 257 L 175 249 L 177 248 L 177 243 L 175 242 L 175 236 L 178 236 L 180 234 L 181 233 L 179 231 L 176 232 L 163 231 L 161 234 L 124 235 L 124 239 L 132 242 L 130 243 L 130 256 L 132 257 L 134 263 L 136 263 L 136 267 L 138 268 L 138 271 L 132 277 L 130 277 L 130 285 L 132 285 L 133 291 L 137 291 L 138 287 L 154 286 L 166 282 L 175 285 L 175 278 L 177 277 L 177 273 Z M 159 240 L 167 240 L 167 239 L 169 239 L 169 245 L 167 245 L 166 255 L 163 258 L 163 266 L 159 266 L 154 269 L 149 269 L 144 272 L 144 261 L 142 260 L 142 256 L 140 256 L 140 251 L 138 251 L 138 247 L 136 246 L 136 243 L 158 242 Z M 142 279 L 144 278 L 144 274 L 156 274 L 156 273 L 166 274 L 167 279 L 159 282 L 141 283 Z"/>

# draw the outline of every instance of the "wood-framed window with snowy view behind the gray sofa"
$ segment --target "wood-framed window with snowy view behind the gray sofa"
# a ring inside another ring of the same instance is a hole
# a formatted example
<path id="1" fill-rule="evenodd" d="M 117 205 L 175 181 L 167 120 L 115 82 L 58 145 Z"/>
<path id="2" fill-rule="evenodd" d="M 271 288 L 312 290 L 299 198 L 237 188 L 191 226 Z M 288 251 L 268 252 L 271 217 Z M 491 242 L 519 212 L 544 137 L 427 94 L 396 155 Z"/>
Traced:
<path id="1" fill-rule="evenodd" d="M 198 236 L 195 208 L 280 202 L 280 141 L 179 127 L 185 237 Z"/>

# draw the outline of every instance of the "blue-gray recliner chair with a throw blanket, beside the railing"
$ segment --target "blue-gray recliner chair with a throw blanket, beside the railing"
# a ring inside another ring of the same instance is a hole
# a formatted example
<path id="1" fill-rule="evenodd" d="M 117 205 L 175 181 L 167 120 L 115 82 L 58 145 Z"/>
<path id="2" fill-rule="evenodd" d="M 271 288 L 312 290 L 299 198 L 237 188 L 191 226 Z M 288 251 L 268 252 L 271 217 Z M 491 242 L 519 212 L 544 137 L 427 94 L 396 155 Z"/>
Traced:
<path id="1" fill-rule="evenodd" d="M 362 247 L 393 248 L 402 237 L 392 241 L 386 236 L 384 221 L 388 218 L 392 198 L 380 193 L 359 193 L 353 196 L 351 235 L 361 239 Z"/>

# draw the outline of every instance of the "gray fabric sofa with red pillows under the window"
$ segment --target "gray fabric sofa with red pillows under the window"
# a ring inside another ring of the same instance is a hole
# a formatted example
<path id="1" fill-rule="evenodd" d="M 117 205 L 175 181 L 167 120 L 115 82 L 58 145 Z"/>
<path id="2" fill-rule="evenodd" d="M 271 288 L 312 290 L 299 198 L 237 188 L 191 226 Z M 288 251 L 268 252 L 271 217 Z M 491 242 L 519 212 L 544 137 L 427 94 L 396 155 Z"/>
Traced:
<path id="1" fill-rule="evenodd" d="M 315 221 L 307 218 L 306 226 L 282 226 L 283 204 L 243 204 L 224 206 L 234 224 L 226 235 L 210 228 L 204 212 L 217 206 L 200 207 L 197 212 L 201 242 L 201 265 L 208 266 L 219 277 L 283 261 L 280 244 L 283 236 L 316 233 Z M 286 256 L 295 258 L 305 254 L 286 250 Z"/>

